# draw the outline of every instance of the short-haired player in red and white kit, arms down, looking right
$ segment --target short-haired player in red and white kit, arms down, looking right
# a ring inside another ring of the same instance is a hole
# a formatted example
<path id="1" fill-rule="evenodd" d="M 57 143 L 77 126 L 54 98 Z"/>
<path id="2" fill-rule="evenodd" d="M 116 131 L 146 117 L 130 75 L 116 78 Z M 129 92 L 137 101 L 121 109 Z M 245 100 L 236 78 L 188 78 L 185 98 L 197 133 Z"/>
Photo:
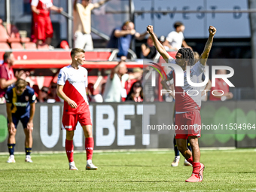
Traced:
<path id="1" fill-rule="evenodd" d="M 65 148 L 69 159 L 69 169 L 78 170 L 73 158 L 73 137 L 78 122 L 84 130 L 85 150 L 87 151 L 86 169 L 98 169 L 92 163 L 94 141 L 86 92 L 88 72 L 87 69 L 81 67 L 85 60 L 84 50 L 72 49 L 71 57 L 72 64 L 60 69 L 57 81 L 57 94 L 64 99 L 62 129 L 66 129 Z"/>

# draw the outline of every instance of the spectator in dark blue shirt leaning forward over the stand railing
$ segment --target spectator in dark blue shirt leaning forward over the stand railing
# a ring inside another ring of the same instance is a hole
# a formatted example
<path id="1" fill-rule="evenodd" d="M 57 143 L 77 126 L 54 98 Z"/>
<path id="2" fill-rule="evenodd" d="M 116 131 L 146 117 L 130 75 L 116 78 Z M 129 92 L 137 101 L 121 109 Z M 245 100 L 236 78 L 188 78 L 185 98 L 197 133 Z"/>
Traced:
<path id="1" fill-rule="evenodd" d="M 133 38 L 142 40 L 147 34 L 148 32 L 144 32 L 142 34 L 136 32 L 134 29 L 134 23 L 128 20 L 123 23 L 123 26 L 117 27 L 113 30 L 107 47 L 117 48 L 119 50 L 117 57 L 121 58 L 121 60 L 125 60 Z"/>

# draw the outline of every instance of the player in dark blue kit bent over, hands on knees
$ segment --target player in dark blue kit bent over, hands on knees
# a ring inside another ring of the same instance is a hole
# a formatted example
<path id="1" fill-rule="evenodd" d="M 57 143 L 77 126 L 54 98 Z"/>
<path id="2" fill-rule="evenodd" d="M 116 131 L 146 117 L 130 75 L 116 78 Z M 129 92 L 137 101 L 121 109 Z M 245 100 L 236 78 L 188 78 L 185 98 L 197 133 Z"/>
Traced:
<path id="1" fill-rule="evenodd" d="M 6 111 L 8 115 L 8 149 L 10 157 L 7 163 L 15 163 L 14 147 L 17 124 L 23 123 L 25 133 L 25 151 L 28 163 L 32 163 L 30 153 L 32 151 L 33 117 L 35 114 L 35 92 L 27 86 L 23 79 L 18 79 L 14 87 L 10 87 L 6 94 Z"/>

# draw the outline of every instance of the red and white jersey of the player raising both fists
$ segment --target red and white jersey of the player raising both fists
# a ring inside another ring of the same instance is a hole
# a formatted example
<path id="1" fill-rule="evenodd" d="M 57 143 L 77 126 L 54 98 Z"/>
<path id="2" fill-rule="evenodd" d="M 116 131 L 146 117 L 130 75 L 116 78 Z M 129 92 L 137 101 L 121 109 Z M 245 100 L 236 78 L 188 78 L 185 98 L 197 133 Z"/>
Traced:
<path id="1" fill-rule="evenodd" d="M 171 56 L 169 57 L 169 63 L 177 64 L 175 59 L 173 59 Z M 204 67 L 205 66 L 203 66 L 200 61 L 194 64 L 194 66 L 190 68 L 190 81 L 193 83 L 200 83 L 202 78 L 201 74 L 203 73 Z M 175 86 L 175 71 L 173 72 L 173 80 Z M 202 87 L 193 87 L 187 83 L 187 72 L 184 71 L 184 86 L 175 86 L 176 113 L 199 111 L 201 108 L 201 89 Z"/>

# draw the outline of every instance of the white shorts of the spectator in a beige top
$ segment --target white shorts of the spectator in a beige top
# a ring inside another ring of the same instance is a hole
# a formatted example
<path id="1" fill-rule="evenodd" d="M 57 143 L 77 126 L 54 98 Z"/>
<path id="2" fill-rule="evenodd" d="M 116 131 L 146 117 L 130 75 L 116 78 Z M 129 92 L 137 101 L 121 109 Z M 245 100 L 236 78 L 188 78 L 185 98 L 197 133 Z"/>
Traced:
<path id="1" fill-rule="evenodd" d="M 75 32 L 74 48 L 81 48 L 84 50 L 93 50 L 93 39 L 90 34 Z"/>

